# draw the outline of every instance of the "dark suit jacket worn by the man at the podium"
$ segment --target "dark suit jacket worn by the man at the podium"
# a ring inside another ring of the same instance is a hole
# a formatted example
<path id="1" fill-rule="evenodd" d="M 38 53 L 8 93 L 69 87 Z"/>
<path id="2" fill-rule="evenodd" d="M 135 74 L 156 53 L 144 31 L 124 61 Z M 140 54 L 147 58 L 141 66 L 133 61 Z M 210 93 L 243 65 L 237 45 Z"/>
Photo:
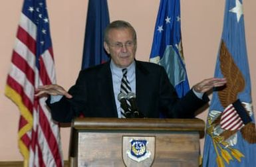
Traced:
<path id="1" fill-rule="evenodd" d="M 84 117 L 118 117 L 110 62 L 82 70 L 68 91 L 73 97 L 47 104 L 53 119 L 70 122 L 83 113 Z M 207 103 L 206 95 L 198 99 L 192 90 L 179 99 L 162 66 L 136 61 L 136 101 L 146 117 L 193 118 L 194 112 Z"/>

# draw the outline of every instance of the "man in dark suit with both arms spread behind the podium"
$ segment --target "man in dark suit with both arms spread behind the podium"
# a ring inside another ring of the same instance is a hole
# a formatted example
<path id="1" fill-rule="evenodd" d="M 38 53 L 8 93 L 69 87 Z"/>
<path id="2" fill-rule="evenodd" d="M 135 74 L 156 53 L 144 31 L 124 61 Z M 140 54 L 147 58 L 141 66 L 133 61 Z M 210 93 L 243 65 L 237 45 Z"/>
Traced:
<path id="1" fill-rule="evenodd" d="M 104 48 L 111 60 L 82 70 L 69 91 L 60 85 L 44 85 L 36 96 L 49 94 L 47 104 L 53 119 L 70 122 L 81 113 L 84 117 L 125 117 L 118 101 L 122 69 L 127 69 L 130 91 L 136 93 L 138 111 L 144 117 L 193 118 L 194 113 L 209 101 L 206 91 L 223 86 L 225 78 L 209 78 L 193 86 L 181 99 L 162 66 L 135 60 L 136 31 L 125 21 L 114 21 L 104 33 Z"/>

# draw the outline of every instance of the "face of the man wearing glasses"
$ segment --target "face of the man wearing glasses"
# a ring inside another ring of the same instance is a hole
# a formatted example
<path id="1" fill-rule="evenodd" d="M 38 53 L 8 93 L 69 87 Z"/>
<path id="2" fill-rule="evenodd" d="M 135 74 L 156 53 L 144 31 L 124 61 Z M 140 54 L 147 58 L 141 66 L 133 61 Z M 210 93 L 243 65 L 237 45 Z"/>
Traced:
<path id="1" fill-rule="evenodd" d="M 136 42 L 132 30 L 128 28 L 110 30 L 108 43 L 104 42 L 104 48 L 116 66 L 128 67 L 134 61 L 136 52 Z"/>

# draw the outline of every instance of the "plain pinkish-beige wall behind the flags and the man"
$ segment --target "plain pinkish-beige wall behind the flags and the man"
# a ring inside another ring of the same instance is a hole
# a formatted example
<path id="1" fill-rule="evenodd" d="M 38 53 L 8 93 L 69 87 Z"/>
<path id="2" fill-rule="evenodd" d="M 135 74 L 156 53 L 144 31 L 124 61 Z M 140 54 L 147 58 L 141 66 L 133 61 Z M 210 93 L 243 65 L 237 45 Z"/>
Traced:
<path id="1" fill-rule="evenodd" d="M 0 5 L 0 160 L 22 160 L 17 146 L 19 111 L 4 95 L 22 0 Z M 82 59 L 87 1 L 47 1 L 57 70 L 57 82 L 74 84 Z M 182 38 L 190 85 L 213 76 L 223 25 L 224 0 L 181 1 Z M 148 61 L 159 0 L 108 0 L 110 20 L 123 19 L 138 32 L 137 59 Z M 256 103 L 256 1 L 244 2 L 247 52 L 251 70 L 253 105 Z M 199 117 L 205 120 L 204 112 Z M 69 129 L 61 129 L 64 159 L 68 158 Z M 201 142 L 203 144 L 203 140 Z M 203 147 L 203 146 L 201 146 Z"/>

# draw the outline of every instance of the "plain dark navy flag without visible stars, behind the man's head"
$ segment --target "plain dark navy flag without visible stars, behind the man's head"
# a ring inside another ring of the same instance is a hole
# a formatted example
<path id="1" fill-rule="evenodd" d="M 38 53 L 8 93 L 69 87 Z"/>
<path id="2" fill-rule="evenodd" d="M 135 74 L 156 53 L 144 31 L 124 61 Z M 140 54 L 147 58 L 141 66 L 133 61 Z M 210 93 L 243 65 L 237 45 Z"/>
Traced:
<path id="1" fill-rule="evenodd" d="M 82 69 L 108 61 L 103 46 L 104 29 L 109 24 L 108 2 L 106 0 L 89 0 L 84 36 Z"/>

